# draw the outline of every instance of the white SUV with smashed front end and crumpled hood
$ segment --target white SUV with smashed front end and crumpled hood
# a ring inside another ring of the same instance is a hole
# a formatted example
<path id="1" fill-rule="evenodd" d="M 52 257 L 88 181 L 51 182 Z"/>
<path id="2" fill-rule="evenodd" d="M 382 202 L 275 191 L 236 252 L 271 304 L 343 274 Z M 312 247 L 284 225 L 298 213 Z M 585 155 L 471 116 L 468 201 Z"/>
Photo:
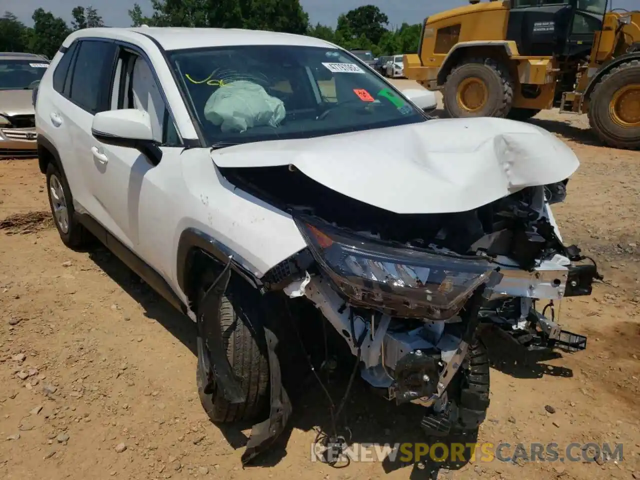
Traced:
<path id="1" fill-rule="evenodd" d="M 335 45 L 263 31 L 83 29 L 43 77 L 38 154 L 63 242 L 97 237 L 197 323 L 212 420 L 271 407 L 244 461 L 291 413 L 287 317 L 331 324 L 365 381 L 425 407 L 431 436 L 484 419 L 479 324 L 584 348 L 536 308 L 599 277 L 549 207 L 572 150 L 433 108 Z"/>

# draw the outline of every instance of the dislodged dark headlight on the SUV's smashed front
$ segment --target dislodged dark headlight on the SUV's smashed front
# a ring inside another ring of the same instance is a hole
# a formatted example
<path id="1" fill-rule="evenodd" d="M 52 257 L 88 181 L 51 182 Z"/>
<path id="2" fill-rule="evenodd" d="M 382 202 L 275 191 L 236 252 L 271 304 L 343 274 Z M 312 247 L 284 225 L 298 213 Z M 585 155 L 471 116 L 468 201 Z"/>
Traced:
<path id="1" fill-rule="evenodd" d="M 400 317 L 446 320 L 487 282 L 492 266 L 365 237 L 317 218 L 296 218 L 316 261 L 356 305 Z"/>

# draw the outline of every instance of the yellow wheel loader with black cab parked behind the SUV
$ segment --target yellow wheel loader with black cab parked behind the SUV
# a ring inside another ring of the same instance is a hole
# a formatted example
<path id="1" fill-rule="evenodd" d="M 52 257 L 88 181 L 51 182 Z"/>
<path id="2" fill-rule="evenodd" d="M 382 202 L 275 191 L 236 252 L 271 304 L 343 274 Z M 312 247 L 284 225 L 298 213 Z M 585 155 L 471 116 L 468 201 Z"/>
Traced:
<path id="1" fill-rule="evenodd" d="M 640 12 L 608 0 L 470 0 L 424 20 L 404 75 L 450 116 L 588 113 L 598 137 L 640 148 Z"/>

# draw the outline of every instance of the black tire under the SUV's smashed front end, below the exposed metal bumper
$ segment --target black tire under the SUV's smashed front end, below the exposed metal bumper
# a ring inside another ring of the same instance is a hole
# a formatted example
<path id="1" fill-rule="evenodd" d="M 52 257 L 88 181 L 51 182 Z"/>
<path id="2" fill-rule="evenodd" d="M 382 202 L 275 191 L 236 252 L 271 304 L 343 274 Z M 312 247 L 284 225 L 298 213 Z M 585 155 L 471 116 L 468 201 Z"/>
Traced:
<path id="1" fill-rule="evenodd" d="M 469 346 L 460 374 L 460 392 L 456 399 L 458 419 L 453 430 L 477 430 L 486 419 L 489 408 L 489 356 L 481 340 Z"/>

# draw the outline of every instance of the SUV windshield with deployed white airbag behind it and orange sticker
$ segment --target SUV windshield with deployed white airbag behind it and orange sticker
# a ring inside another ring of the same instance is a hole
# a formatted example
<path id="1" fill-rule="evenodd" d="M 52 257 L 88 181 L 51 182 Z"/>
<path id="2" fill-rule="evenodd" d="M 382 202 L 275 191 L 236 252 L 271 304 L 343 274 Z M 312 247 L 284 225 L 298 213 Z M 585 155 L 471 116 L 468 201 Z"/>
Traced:
<path id="1" fill-rule="evenodd" d="M 426 121 L 344 51 L 243 45 L 170 52 L 211 144 L 310 138 Z"/>

